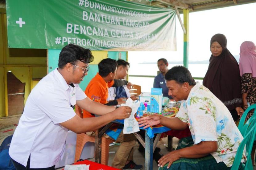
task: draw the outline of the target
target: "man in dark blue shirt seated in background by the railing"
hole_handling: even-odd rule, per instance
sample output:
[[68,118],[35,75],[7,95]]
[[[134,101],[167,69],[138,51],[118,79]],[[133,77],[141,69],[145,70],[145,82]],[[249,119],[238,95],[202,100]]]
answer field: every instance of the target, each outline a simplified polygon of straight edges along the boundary
[[161,73],[157,75],[154,79],[154,88],[162,88],[163,89],[163,96],[172,99],[171,96],[168,95],[168,88],[166,87],[164,76],[168,71],[168,61],[167,59],[159,59],[157,61],[157,67]]

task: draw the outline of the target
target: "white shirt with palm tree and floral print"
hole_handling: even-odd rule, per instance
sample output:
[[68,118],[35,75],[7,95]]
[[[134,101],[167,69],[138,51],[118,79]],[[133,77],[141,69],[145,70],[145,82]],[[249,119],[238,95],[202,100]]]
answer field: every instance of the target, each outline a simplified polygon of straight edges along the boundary
[[176,117],[188,123],[195,144],[217,141],[218,149],[211,155],[217,163],[232,166],[243,137],[227,107],[208,88],[197,83],[181,103]]

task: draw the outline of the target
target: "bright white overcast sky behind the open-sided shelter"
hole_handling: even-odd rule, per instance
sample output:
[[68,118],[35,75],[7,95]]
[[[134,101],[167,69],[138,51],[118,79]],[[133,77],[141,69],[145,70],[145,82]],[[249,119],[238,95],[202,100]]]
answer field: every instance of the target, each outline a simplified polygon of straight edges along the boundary
[[[239,55],[242,42],[256,43],[256,3],[189,13],[189,61],[209,60],[210,39],[221,33],[227,38],[227,48]],[[181,14],[183,20],[183,15]],[[130,51],[129,62],[156,62],[183,60],[183,30],[176,18],[177,51]]]

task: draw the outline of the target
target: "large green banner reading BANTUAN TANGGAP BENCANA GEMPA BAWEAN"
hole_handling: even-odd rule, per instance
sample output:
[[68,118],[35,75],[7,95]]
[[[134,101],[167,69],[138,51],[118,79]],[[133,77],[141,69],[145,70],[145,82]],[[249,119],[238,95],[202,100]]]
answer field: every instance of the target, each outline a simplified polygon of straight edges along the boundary
[[175,51],[175,10],[126,0],[6,0],[9,48]]

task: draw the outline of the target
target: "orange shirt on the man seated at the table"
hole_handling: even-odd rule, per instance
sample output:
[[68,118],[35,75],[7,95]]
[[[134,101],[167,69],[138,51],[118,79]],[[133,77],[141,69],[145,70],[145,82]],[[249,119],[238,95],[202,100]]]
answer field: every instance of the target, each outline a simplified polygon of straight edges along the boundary
[[[108,88],[112,87],[114,80],[106,83],[105,80],[97,73],[95,77],[89,82],[85,89],[87,97],[95,102],[106,104],[108,99]],[[86,110],[83,110],[83,118],[94,117]]]

